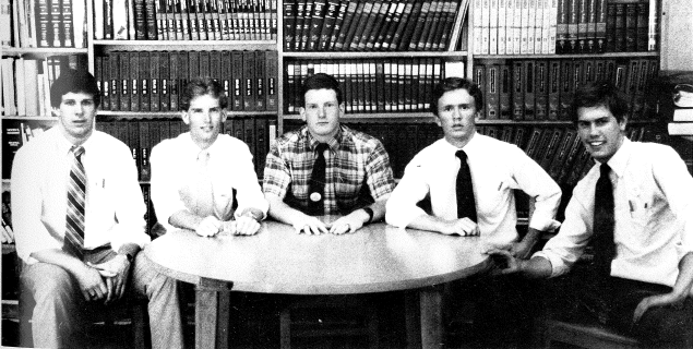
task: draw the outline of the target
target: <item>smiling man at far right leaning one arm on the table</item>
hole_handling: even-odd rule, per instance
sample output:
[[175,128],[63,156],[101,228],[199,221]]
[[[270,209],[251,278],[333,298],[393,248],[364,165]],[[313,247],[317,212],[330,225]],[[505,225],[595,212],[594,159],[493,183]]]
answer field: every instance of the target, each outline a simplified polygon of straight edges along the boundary
[[[693,179],[670,147],[624,136],[628,105],[611,83],[578,91],[577,132],[596,160],[573,190],[561,230],[505,274],[567,275],[566,303],[649,346],[693,347]],[[576,263],[592,245],[592,262]],[[561,309],[565,312],[565,309]]]

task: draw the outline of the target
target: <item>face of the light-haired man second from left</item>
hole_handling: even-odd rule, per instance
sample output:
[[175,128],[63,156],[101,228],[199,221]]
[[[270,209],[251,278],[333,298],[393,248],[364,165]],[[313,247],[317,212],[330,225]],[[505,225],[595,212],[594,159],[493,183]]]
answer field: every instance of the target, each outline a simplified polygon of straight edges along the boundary
[[219,99],[208,94],[192,98],[188,111],[183,111],[183,122],[190,125],[192,140],[202,148],[216,141],[224,121],[226,111],[219,106]]

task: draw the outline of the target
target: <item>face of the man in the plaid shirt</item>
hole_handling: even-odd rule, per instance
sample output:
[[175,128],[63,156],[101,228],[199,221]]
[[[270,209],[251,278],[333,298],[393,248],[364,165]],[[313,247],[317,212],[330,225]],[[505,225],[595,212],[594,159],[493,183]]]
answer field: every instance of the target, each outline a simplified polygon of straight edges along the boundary
[[344,115],[344,105],[337,101],[334,89],[309,89],[304,96],[306,107],[301,108],[301,119],[308,124],[308,131],[319,141],[327,141],[339,129],[339,118]]

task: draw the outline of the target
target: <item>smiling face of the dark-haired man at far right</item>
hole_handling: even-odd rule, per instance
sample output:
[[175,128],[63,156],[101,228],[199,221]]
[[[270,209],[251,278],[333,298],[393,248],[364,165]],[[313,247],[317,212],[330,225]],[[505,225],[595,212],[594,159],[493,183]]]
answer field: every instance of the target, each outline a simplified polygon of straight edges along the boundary
[[577,132],[585,148],[600,163],[608,161],[623,144],[626,120],[617,121],[605,106],[578,108]]

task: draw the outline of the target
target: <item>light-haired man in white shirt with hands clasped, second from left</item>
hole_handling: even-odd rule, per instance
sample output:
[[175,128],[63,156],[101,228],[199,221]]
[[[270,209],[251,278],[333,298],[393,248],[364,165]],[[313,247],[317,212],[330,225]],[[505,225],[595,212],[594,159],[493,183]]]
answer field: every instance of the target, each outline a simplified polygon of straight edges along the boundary
[[226,105],[218,83],[191,81],[181,100],[190,132],[152,149],[152,200],[167,230],[184,228],[213,237],[220,231],[254,234],[260,229],[267,202],[248,145],[220,134]]

